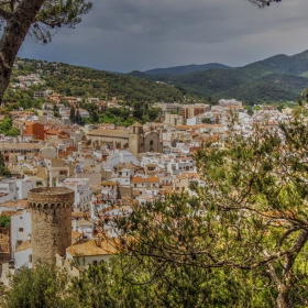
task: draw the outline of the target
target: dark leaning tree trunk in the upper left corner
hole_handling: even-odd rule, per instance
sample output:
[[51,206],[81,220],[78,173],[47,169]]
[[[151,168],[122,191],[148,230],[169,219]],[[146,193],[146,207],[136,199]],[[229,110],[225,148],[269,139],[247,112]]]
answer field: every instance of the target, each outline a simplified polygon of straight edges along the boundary
[[23,0],[7,19],[0,40],[0,103],[9,86],[16,54],[45,0]]

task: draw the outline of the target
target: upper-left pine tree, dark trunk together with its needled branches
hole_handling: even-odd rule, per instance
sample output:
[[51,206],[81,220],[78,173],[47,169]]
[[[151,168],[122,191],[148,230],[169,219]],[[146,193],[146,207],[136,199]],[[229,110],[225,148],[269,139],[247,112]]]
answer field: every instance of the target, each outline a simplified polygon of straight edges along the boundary
[[85,0],[0,0],[0,99],[25,35],[46,44],[56,29],[74,28],[90,8]]

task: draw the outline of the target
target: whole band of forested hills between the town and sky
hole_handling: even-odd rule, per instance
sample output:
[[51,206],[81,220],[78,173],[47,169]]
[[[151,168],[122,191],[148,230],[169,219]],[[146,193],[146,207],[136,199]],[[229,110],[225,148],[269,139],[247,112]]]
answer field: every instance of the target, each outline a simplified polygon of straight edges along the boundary
[[[185,97],[235,98],[246,103],[273,102],[296,100],[308,87],[308,51],[293,56],[276,55],[238,68],[206,66],[207,70],[186,75],[177,74],[193,66],[154,69],[156,74],[164,73],[162,75],[150,75],[148,70],[147,74],[134,70],[124,75],[25,59],[14,69],[12,79],[42,69],[46,84],[37,86],[37,90],[52,88],[62,95],[85,98],[118,97],[127,102],[184,101]],[[175,69],[174,75],[166,74],[167,69]]]

